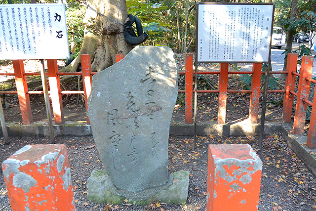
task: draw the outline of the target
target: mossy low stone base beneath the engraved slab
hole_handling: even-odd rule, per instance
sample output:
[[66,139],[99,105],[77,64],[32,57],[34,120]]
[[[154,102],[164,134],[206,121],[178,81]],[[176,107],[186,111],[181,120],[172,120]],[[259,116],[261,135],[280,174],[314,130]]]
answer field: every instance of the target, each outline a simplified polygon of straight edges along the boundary
[[93,170],[88,178],[87,199],[94,203],[148,205],[152,200],[160,203],[185,205],[188,198],[190,171],[176,171],[169,175],[169,181],[162,187],[140,192],[118,190],[105,170]]

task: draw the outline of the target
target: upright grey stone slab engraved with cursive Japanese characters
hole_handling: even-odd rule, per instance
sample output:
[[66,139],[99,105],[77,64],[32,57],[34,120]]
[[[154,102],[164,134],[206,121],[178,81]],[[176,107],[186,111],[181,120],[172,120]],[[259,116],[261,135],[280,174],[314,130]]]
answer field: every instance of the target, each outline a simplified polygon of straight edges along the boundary
[[166,184],[177,75],[170,48],[137,46],[93,76],[87,114],[102,162],[119,189]]

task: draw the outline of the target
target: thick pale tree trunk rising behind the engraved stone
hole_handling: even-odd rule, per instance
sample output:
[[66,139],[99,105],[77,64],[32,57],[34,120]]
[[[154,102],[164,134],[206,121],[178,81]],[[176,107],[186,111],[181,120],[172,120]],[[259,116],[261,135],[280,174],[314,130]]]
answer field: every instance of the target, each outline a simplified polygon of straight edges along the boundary
[[[125,0],[87,0],[87,5],[119,23],[127,18]],[[123,26],[87,8],[85,20],[92,22],[85,29],[79,55],[73,61],[72,72],[80,66],[80,55],[90,54],[93,72],[100,72],[113,65],[116,53],[127,54],[133,46],[124,39]]]

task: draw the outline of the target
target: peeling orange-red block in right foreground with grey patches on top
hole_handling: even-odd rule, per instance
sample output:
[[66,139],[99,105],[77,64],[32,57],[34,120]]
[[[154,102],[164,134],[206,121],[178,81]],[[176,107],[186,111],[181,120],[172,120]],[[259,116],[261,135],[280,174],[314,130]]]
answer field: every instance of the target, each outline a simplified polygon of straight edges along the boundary
[[209,145],[206,211],[257,211],[261,171],[250,145]]

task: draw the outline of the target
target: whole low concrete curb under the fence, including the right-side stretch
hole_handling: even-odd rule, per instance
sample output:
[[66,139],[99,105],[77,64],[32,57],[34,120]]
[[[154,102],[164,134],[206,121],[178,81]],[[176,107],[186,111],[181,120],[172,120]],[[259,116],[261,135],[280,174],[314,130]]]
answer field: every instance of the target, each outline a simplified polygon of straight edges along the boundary
[[[17,123],[7,123],[9,136],[49,136],[49,127],[46,122],[37,122],[32,125],[20,125]],[[274,132],[281,132],[291,149],[316,175],[316,149],[306,147],[307,136],[292,135],[288,131],[292,130],[292,125],[281,125],[278,122],[266,123],[264,134],[269,135]],[[214,136],[243,136],[259,135],[260,124],[251,125],[247,121],[225,125],[198,125],[197,135]],[[92,135],[92,130],[86,122],[65,122],[62,125],[54,125],[55,136],[85,136]],[[192,136],[194,134],[193,125],[174,124],[170,126],[170,135]],[[0,130],[0,136],[2,130]]]

